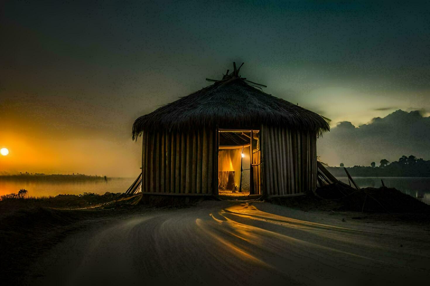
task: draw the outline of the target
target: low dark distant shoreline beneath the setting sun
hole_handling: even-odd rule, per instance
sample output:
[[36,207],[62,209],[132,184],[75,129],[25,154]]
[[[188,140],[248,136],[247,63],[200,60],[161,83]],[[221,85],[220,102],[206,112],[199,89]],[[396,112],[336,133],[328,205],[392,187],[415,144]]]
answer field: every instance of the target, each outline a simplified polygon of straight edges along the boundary
[[11,179],[11,180],[22,180],[22,181],[87,181],[87,180],[105,180],[107,181],[106,176],[98,176],[98,175],[84,175],[84,174],[72,174],[72,175],[62,175],[62,174],[52,174],[52,175],[46,175],[43,173],[22,173],[20,172],[19,175],[1,175],[0,179]]

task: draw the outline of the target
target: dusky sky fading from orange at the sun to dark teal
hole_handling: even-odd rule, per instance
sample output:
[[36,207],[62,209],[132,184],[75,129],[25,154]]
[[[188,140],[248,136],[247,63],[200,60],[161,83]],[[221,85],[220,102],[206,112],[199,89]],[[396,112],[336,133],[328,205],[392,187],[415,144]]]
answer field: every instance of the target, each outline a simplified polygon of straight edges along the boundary
[[430,115],[422,2],[3,1],[0,148],[9,155],[0,173],[135,177],[133,121],[221,78],[233,61],[265,92],[332,120],[318,140],[323,162],[367,166],[405,152],[429,160],[419,138],[386,134],[391,145],[367,145],[362,156],[350,150],[362,150],[364,131],[341,136],[399,109]]

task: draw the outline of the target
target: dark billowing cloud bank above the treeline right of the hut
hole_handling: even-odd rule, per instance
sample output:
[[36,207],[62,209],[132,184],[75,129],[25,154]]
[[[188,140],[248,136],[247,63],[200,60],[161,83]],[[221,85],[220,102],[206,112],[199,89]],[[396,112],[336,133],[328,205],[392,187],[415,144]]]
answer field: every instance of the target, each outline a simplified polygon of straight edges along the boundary
[[331,166],[369,166],[381,159],[398,160],[402,155],[430,159],[430,117],[420,110],[397,110],[375,117],[368,124],[354,126],[348,121],[318,139],[317,153]]

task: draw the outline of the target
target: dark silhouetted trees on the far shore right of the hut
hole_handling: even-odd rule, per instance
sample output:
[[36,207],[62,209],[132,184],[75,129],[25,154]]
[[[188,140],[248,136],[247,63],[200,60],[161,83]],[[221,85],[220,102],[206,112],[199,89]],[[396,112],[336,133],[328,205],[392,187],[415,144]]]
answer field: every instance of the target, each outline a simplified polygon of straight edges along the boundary
[[[414,155],[389,162],[382,159],[379,166],[372,162],[370,166],[353,166],[346,168],[352,177],[430,177],[430,160],[417,159]],[[335,177],[345,177],[343,163],[340,167],[328,167],[327,170]]]

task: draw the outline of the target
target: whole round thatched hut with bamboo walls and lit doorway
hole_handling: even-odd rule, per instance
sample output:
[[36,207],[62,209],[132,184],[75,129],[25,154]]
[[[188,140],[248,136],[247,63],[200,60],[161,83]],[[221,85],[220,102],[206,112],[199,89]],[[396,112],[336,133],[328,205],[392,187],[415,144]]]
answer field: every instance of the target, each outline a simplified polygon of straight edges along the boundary
[[[240,69],[240,68],[239,68]],[[320,115],[233,72],[135,120],[141,190],[180,196],[295,196],[316,188]]]

